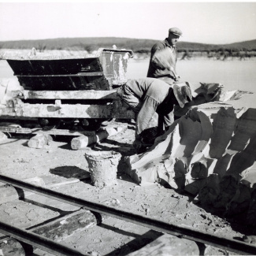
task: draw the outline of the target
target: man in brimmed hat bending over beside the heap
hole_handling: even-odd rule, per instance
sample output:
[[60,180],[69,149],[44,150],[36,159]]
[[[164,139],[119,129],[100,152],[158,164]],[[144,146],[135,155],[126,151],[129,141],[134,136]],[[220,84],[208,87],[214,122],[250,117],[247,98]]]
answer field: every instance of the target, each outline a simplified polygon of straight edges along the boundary
[[[117,95],[135,112],[133,147],[138,153],[145,144],[152,145],[154,139],[164,132],[164,127],[167,130],[173,124],[173,106],[179,104],[183,108],[184,104],[192,99],[191,88],[187,84],[182,83],[179,86],[179,83],[176,83],[172,88],[168,83],[154,78],[128,80],[117,89]],[[146,133],[145,136],[154,113],[158,113],[158,132],[151,136]]]

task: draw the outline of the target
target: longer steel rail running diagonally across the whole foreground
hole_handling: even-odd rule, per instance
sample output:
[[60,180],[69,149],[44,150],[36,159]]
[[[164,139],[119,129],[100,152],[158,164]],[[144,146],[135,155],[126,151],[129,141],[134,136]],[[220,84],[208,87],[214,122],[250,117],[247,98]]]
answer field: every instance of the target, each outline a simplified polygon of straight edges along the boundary
[[184,239],[190,239],[199,243],[206,243],[213,247],[218,247],[224,250],[236,252],[237,254],[256,255],[256,247],[250,243],[244,243],[242,241],[235,239],[228,239],[221,236],[215,236],[207,232],[199,232],[193,228],[185,228],[175,224],[169,224],[163,221],[158,221],[150,217],[143,217],[141,215],[130,213],[124,210],[117,210],[106,205],[86,201],[81,198],[75,198],[72,197],[71,195],[61,194],[57,191],[51,191],[50,189],[44,187],[28,184],[20,180],[15,180],[9,176],[0,175],[0,181],[6,184],[13,185],[14,187],[20,187],[24,190],[32,191],[39,195],[54,198],[55,200],[61,202],[66,202],[74,206],[84,207],[87,210],[106,214],[108,216],[121,219],[123,221],[129,221],[135,224],[143,225],[147,228],[158,230],[160,232],[165,232],[174,236],[180,236]]

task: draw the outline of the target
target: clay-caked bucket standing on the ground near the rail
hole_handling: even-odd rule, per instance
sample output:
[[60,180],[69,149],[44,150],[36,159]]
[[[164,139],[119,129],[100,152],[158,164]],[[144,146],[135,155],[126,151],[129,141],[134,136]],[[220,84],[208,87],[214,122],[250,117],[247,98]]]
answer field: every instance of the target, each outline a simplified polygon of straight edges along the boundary
[[117,184],[117,165],[121,154],[114,151],[93,151],[85,154],[91,182],[96,187],[106,187]]

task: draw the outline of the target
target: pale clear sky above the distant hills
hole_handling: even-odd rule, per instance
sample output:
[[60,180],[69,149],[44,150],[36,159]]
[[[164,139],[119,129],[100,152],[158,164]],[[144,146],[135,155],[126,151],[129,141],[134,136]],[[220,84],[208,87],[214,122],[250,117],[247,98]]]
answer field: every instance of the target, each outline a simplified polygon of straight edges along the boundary
[[256,39],[256,2],[0,2],[0,41],[72,37],[236,43]]

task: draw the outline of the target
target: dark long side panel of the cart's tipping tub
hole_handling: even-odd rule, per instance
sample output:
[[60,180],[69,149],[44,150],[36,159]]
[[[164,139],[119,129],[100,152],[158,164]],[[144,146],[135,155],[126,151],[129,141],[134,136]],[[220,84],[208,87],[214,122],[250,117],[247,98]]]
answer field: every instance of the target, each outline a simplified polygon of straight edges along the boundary
[[98,58],[7,61],[25,89],[109,90]]

